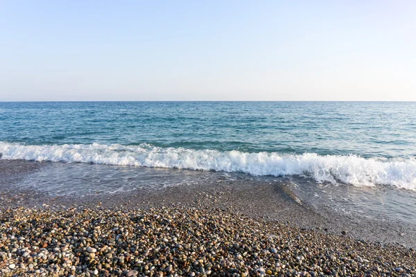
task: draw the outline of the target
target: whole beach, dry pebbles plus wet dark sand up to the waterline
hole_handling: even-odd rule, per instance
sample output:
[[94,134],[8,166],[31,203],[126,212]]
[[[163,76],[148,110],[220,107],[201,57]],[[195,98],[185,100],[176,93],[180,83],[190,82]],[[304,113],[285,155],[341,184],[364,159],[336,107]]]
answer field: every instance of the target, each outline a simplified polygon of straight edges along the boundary
[[1,164],[8,172],[0,181],[3,276],[416,272],[410,231],[392,234],[382,222],[316,213],[289,184],[215,179],[213,172],[211,184],[51,197],[13,185],[44,163]]

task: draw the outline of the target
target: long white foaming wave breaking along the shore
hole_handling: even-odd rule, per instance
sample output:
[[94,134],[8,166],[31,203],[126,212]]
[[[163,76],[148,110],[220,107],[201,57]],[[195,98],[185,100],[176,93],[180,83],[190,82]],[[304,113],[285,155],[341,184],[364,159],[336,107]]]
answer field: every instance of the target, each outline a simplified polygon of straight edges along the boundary
[[101,163],[115,166],[146,166],[245,172],[250,175],[311,177],[318,182],[354,186],[386,185],[416,190],[415,159],[365,159],[356,155],[315,153],[281,154],[240,151],[191,150],[141,145],[98,143],[65,145],[20,145],[0,142],[0,159]]

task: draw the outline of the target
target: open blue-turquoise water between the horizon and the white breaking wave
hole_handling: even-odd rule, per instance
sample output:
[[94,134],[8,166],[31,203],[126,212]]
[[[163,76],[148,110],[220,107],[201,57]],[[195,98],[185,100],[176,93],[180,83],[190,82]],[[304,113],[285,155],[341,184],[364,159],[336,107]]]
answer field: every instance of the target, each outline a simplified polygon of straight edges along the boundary
[[416,102],[0,102],[0,141],[416,156]]

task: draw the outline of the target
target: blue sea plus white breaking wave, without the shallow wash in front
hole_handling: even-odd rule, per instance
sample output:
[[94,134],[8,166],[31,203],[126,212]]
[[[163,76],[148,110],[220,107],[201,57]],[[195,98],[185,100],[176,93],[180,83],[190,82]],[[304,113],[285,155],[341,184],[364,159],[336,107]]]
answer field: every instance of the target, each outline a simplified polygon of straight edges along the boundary
[[1,102],[1,159],[416,190],[416,102]]

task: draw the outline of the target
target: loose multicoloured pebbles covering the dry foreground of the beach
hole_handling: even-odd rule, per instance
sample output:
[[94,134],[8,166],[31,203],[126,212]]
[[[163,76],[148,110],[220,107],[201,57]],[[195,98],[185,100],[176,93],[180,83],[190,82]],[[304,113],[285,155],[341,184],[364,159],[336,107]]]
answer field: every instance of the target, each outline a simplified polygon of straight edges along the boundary
[[8,207],[1,276],[416,276],[416,250],[230,208]]

